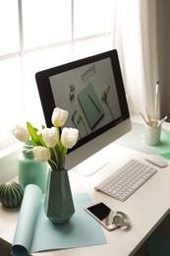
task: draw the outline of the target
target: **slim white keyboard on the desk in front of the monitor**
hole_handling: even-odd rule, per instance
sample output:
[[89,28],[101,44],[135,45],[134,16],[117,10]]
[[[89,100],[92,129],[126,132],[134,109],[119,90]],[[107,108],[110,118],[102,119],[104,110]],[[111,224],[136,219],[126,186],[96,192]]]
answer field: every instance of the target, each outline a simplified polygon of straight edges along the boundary
[[125,201],[156,172],[156,169],[139,160],[130,160],[94,188]]

